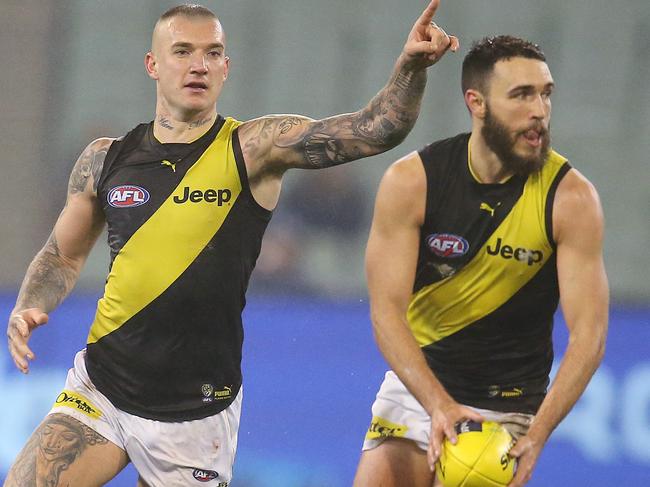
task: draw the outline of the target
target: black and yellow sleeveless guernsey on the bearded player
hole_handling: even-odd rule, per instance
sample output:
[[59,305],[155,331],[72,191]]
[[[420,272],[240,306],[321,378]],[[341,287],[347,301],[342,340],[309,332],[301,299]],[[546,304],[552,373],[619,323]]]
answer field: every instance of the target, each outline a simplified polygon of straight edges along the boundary
[[468,152],[469,134],[419,152],[427,200],[409,326],[455,400],[535,413],[559,299],[553,200],[570,165],[551,151],[536,174],[482,184]]

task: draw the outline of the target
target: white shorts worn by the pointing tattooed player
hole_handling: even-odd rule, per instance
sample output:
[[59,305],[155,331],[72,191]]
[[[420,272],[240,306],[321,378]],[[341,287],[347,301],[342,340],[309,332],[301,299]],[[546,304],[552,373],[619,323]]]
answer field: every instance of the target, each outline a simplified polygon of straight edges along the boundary
[[117,409],[90,381],[84,361],[75,356],[65,389],[48,414],[72,416],[126,451],[150,487],[206,485],[226,487],[232,479],[242,391],[225,410],[194,421],[145,419]]

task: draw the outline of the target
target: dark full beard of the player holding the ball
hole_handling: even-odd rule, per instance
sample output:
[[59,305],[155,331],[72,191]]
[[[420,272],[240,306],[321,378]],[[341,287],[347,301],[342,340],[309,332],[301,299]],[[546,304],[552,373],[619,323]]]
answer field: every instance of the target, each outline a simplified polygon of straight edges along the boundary
[[[515,152],[515,144],[519,137],[528,130],[539,132],[542,140],[540,151],[537,155],[520,156]],[[538,172],[544,166],[551,146],[551,134],[541,122],[531,125],[526,130],[511,134],[508,127],[492,114],[489,105],[486,105],[481,135],[489,149],[501,160],[504,169],[525,177]]]

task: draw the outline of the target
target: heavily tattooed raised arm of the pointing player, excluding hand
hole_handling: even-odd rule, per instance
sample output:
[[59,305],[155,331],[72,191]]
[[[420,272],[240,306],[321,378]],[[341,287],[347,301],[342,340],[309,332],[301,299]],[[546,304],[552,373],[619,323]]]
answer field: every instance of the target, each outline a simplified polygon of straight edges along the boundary
[[[300,155],[308,168],[335,166],[387,151],[411,131],[420,112],[426,71],[399,62],[387,85],[363,109],[314,122],[299,136],[285,136],[300,119],[286,118],[274,138],[277,147]],[[295,123],[294,120],[298,120]]]

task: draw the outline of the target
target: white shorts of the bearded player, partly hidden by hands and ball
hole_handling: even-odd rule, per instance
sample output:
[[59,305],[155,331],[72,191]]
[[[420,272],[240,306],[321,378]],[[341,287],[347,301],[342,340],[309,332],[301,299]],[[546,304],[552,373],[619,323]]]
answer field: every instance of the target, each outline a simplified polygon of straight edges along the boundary
[[[472,407],[487,421],[501,423],[515,438],[525,435],[533,415],[504,413]],[[395,372],[386,372],[377,399],[372,405],[372,421],[363,442],[363,450],[379,446],[386,438],[404,438],[414,441],[421,449],[429,447],[431,417],[409,392]]]

